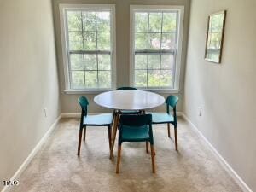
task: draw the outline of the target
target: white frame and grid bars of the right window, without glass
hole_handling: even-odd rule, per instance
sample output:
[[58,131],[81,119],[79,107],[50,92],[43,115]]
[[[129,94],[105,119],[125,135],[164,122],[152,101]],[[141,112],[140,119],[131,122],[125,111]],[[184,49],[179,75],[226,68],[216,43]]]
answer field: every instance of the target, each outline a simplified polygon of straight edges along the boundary
[[[179,76],[180,76],[180,65],[181,65],[181,49],[182,49],[182,36],[183,36],[183,6],[142,6],[142,5],[131,5],[130,6],[130,26],[131,26],[131,64],[130,64],[130,84],[135,86],[135,71],[136,70],[147,70],[147,86],[137,86],[138,89],[142,90],[178,90],[179,89]],[[175,31],[175,46],[174,49],[162,49],[162,34],[164,33],[172,33],[172,32],[163,32],[162,26],[160,33],[160,49],[135,49],[135,34],[139,32],[135,32],[135,14],[136,13],[148,13],[148,23],[149,23],[149,14],[150,13],[161,13],[162,20],[161,25],[163,25],[163,14],[164,13],[176,13],[176,31]],[[148,25],[149,27],[149,25]],[[158,32],[150,32],[149,29],[147,32],[143,33],[158,33]],[[149,38],[148,43],[149,43]],[[148,44],[147,43],[147,44]],[[135,69],[135,56],[147,55],[147,68],[145,69]],[[171,86],[148,86],[148,71],[151,70],[165,70],[160,68],[148,69],[148,55],[160,55],[160,65],[161,65],[161,55],[173,55],[173,67],[172,67],[172,85]],[[159,75],[160,76],[160,75]]]

